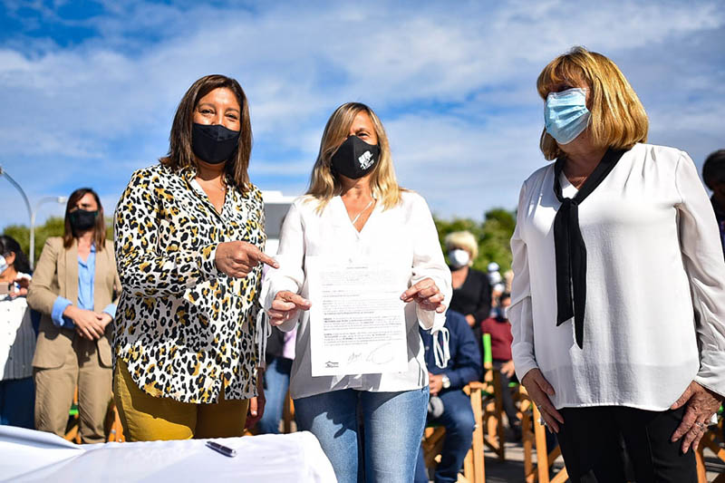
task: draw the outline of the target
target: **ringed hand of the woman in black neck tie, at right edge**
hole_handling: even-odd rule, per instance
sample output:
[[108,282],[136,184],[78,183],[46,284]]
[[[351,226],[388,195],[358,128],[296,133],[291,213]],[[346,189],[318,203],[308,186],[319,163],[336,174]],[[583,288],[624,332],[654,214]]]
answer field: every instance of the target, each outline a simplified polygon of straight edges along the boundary
[[705,434],[705,430],[710,424],[710,418],[716,411],[720,409],[722,396],[702,387],[697,382],[690,382],[687,389],[682,393],[680,399],[675,401],[670,407],[676,410],[687,404],[685,415],[677,430],[672,434],[672,442],[682,439],[682,453],[686,453],[688,449],[697,449]]

